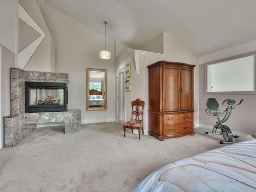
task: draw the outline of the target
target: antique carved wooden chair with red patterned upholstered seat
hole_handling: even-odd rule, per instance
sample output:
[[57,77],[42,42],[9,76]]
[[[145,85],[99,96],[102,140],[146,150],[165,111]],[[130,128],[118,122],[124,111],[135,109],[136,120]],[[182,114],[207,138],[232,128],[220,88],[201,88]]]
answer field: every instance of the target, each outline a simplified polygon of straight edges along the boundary
[[[139,131],[139,139],[142,130],[142,134],[144,135],[143,130],[143,110],[144,110],[145,102],[140,99],[136,99],[132,102],[132,118],[131,121],[127,121],[123,124],[123,137],[125,137],[126,128],[133,130],[136,129]],[[140,107],[142,107],[142,111],[140,111]],[[135,111],[134,111],[135,108]],[[139,118],[141,116],[141,119]],[[135,117],[135,118],[134,118]]]

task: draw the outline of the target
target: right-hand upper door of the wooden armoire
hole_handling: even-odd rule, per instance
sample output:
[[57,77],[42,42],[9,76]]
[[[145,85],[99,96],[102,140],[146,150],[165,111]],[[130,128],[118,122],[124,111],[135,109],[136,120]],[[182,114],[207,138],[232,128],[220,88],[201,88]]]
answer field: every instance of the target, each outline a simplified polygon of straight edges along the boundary
[[193,110],[194,89],[193,69],[181,68],[181,108],[180,110]]

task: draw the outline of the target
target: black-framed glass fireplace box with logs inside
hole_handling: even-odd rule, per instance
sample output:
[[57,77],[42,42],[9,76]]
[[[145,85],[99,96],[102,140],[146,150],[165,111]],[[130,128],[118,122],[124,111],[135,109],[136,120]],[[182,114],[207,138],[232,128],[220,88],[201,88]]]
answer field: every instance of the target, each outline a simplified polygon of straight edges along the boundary
[[25,82],[25,112],[67,111],[68,86],[60,82]]

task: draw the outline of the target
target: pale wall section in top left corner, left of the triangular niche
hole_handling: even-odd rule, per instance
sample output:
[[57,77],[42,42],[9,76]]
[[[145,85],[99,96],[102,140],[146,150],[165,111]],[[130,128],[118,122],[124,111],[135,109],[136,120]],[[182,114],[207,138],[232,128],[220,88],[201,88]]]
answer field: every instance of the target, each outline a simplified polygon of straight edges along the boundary
[[0,44],[16,52],[17,0],[0,1]]

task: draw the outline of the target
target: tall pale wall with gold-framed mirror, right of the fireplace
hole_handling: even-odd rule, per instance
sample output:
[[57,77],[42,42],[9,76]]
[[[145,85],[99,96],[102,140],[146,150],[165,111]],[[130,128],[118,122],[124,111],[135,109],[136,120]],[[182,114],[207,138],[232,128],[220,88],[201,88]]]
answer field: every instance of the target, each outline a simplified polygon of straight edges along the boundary
[[[115,120],[115,42],[106,38],[110,60],[99,59],[104,36],[47,5],[41,5],[49,30],[56,44],[58,73],[69,73],[69,109],[81,109],[82,123]],[[86,111],[86,69],[108,70],[108,110]]]

